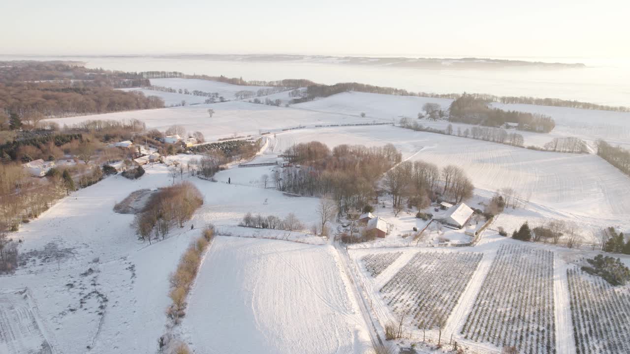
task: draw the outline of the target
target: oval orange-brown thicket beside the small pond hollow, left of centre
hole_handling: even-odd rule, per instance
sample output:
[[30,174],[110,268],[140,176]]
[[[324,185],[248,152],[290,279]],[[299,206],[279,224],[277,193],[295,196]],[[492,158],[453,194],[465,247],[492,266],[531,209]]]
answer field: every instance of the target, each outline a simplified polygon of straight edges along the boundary
[[132,227],[139,239],[149,243],[164,239],[174,226],[183,227],[202,204],[201,192],[188,181],[160,188],[151,195],[145,210],[135,215]]

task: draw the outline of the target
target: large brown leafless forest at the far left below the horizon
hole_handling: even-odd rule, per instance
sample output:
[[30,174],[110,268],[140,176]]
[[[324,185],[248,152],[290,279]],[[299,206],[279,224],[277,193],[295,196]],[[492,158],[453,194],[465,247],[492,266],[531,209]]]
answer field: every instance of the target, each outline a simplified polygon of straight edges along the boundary
[[76,62],[0,62],[0,120],[16,116],[37,123],[45,117],[161,108],[164,101],[117,88],[149,85],[134,72],[86,69]]

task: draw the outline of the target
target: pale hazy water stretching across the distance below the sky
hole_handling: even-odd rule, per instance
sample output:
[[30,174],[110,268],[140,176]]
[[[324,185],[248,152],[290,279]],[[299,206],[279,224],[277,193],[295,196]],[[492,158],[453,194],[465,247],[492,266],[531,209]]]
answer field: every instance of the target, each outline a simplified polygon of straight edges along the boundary
[[157,57],[16,57],[0,60],[78,60],[88,67],[122,71],[180,71],[243,77],[246,80],[309,79],[316,83],[357,82],[430,93],[488,93],[498,96],[561,98],[601,105],[630,106],[630,60],[518,58],[581,62],[585,68],[418,69],[334,62],[246,62]]

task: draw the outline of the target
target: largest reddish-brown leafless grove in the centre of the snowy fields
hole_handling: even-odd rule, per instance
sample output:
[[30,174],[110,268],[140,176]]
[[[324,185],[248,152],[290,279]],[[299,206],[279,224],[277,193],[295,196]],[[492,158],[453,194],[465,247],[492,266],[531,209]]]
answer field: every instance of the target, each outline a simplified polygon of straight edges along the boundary
[[392,144],[384,147],[336,146],[332,151],[321,142],[297,144],[285,151],[290,161],[301,164],[276,169],[276,188],[301,195],[328,195],[341,213],[361,210],[375,197],[375,183],[401,161]]

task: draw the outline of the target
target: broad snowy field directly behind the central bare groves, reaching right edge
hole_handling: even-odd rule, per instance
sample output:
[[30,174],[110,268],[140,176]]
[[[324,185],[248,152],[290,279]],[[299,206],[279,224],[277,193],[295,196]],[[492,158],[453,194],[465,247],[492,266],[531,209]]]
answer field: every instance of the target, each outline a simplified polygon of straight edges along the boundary
[[545,217],[574,222],[630,227],[630,178],[591,154],[533,151],[447,135],[413,132],[398,127],[343,127],[277,134],[274,151],[298,142],[318,140],[336,146],[382,146],[392,142],[403,159],[439,167],[460,166],[477,193],[491,197],[500,188],[514,188],[528,208]]

